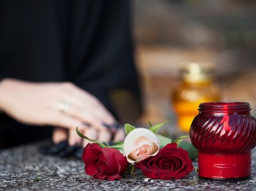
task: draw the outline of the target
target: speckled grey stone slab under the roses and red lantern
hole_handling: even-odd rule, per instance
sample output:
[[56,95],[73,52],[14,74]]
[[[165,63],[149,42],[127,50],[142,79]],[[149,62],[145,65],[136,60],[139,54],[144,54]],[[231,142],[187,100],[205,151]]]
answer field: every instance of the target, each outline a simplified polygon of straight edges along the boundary
[[[256,150],[252,176],[243,181],[202,180],[193,172],[183,180],[151,180],[140,171],[122,180],[93,180],[78,159],[38,152],[40,144],[0,151],[0,190],[256,190]],[[197,164],[195,164],[197,165]]]

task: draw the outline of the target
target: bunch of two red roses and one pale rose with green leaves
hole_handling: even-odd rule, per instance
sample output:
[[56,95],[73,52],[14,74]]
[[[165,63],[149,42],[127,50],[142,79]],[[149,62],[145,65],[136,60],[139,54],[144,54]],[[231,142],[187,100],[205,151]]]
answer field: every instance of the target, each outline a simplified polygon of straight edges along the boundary
[[147,178],[173,180],[184,178],[193,171],[188,152],[180,148],[182,136],[174,142],[157,134],[166,121],[149,128],[124,126],[127,134],[124,142],[113,145],[103,144],[76,132],[82,138],[93,142],[84,148],[82,160],[87,175],[100,180],[120,180],[122,173],[139,168]]

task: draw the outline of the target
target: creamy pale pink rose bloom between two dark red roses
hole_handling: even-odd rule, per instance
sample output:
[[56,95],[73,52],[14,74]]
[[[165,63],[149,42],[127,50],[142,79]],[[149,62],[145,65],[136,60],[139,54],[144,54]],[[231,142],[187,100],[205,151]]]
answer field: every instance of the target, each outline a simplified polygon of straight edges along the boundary
[[136,128],[124,140],[124,155],[129,163],[138,163],[159,151],[159,139],[151,130]]

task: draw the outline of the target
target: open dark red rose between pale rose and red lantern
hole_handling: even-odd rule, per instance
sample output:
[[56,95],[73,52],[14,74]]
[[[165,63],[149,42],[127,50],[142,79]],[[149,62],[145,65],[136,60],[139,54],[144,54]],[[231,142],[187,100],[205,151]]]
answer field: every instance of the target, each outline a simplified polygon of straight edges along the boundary
[[188,151],[170,143],[161,148],[154,157],[140,161],[140,169],[147,178],[172,180],[184,178],[193,171]]

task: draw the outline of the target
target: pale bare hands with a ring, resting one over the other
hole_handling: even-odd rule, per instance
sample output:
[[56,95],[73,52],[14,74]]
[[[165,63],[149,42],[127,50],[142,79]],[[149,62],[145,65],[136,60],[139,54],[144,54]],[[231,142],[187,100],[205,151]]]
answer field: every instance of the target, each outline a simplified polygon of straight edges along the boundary
[[24,124],[58,127],[53,134],[55,142],[68,138],[70,145],[81,144],[76,127],[102,142],[109,141],[112,133],[117,140],[124,138],[123,132],[104,126],[116,124],[116,119],[99,100],[70,82],[32,83],[7,78],[1,81],[0,92],[0,111]]

